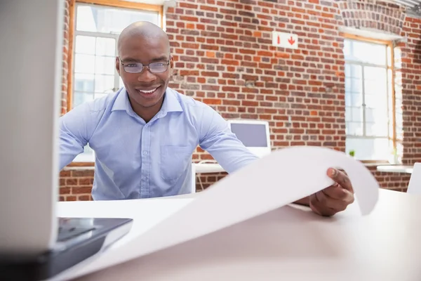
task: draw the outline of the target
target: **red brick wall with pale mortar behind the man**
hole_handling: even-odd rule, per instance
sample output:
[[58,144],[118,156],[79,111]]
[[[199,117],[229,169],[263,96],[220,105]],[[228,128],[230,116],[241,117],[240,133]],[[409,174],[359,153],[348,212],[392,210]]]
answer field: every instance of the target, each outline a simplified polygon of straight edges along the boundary
[[[374,27],[371,22],[378,20],[373,18],[387,15],[393,19],[390,24],[376,23],[375,27],[409,37],[401,45],[403,161],[421,161],[417,113],[421,112],[421,20],[405,18],[393,6],[276,2],[177,1],[177,7],[169,8],[166,15],[175,58],[171,87],[212,105],[223,117],[269,121],[273,148],[323,145],[345,151],[344,37],[339,28]],[[271,46],[272,30],[298,34],[299,49]],[[194,157],[211,158],[200,149]],[[408,184],[407,175],[370,169],[384,188],[405,190]],[[93,172],[86,171],[82,177],[80,173],[62,172],[61,200],[88,199],[80,192],[91,186],[87,183]],[[206,187],[222,176],[207,174],[201,179]]]

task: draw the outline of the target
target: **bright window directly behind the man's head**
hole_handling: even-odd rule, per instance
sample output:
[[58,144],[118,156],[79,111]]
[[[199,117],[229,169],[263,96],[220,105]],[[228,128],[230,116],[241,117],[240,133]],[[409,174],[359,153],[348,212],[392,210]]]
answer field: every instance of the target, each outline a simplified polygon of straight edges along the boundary
[[[67,110],[123,86],[115,70],[115,58],[119,34],[126,26],[140,20],[161,26],[161,6],[126,1],[114,1],[116,6],[101,5],[102,0],[95,1],[98,4],[83,2],[76,1],[74,8],[73,63],[69,70],[72,81]],[[87,145],[74,162],[93,162],[93,150]]]

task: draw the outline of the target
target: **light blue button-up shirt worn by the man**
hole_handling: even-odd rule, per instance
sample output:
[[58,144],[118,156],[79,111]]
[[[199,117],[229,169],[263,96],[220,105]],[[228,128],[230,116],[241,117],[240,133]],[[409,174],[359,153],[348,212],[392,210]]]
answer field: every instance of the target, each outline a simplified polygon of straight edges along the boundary
[[188,193],[183,183],[197,145],[228,173],[258,158],[212,107],[169,88],[148,123],[133,112],[124,88],[60,117],[60,170],[88,143],[95,151],[94,200]]

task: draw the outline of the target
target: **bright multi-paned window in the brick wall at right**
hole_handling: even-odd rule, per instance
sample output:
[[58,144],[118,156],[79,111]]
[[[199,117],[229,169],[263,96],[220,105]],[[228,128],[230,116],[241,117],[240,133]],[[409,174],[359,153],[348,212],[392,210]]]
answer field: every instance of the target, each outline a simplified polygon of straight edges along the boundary
[[390,160],[394,152],[392,48],[345,39],[346,150],[361,160]]

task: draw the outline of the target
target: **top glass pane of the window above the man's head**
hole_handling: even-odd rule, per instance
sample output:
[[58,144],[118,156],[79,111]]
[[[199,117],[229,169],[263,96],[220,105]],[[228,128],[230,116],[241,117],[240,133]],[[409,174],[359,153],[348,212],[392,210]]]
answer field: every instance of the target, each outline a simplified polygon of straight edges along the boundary
[[85,4],[78,4],[76,8],[76,30],[80,31],[119,34],[126,26],[138,21],[159,26],[159,13]]

